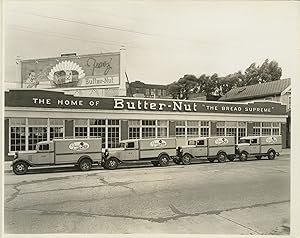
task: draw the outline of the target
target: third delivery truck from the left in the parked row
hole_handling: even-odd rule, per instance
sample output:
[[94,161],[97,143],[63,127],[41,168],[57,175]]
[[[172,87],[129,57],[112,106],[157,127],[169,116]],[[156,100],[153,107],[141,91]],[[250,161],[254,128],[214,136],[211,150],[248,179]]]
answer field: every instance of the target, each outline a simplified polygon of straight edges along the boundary
[[206,157],[209,162],[219,162],[235,158],[235,142],[233,136],[191,138],[187,145],[178,147],[176,164],[190,164],[193,159]]

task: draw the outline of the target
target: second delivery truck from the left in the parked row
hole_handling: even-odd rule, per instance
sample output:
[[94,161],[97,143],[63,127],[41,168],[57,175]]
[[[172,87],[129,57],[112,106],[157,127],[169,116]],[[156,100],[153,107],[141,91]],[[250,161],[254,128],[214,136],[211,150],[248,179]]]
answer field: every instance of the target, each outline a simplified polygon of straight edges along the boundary
[[120,142],[120,148],[105,150],[102,166],[116,169],[120,163],[152,162],[167,166],[176,156],[176,139],[131,139]]

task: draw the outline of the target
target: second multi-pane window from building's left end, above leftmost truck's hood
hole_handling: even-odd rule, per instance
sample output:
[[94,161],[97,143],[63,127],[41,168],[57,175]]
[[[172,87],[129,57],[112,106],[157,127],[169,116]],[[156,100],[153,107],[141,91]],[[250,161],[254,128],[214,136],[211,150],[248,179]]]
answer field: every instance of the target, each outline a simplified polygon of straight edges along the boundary
[[35,150],[36,144],[47,140],[48,119],[28,119],[28,150]]

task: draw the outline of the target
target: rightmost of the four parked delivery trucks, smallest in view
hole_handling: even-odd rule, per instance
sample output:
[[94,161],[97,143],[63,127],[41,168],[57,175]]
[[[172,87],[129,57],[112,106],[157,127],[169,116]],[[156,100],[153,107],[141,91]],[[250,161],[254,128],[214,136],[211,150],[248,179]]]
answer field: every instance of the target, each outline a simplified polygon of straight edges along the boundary
[[237,153],[241,161],[246,161],[248,157],[255,156],[261,159],[267,156],[273,160],[282,151],[282,138],[278,136],[245,136],[237,144]]

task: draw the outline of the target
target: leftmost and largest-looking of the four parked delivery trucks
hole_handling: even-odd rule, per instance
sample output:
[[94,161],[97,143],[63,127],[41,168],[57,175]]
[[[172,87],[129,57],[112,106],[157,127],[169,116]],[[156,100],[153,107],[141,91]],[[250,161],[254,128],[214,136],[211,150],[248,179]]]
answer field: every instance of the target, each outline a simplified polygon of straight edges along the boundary
[[32,152],[16,152],[12,162],[13,172],[25,174],[28,167],[74,164],[82,171],[93,164],[101,164],[102,143],[97,139],[54,139],[38,142]]

